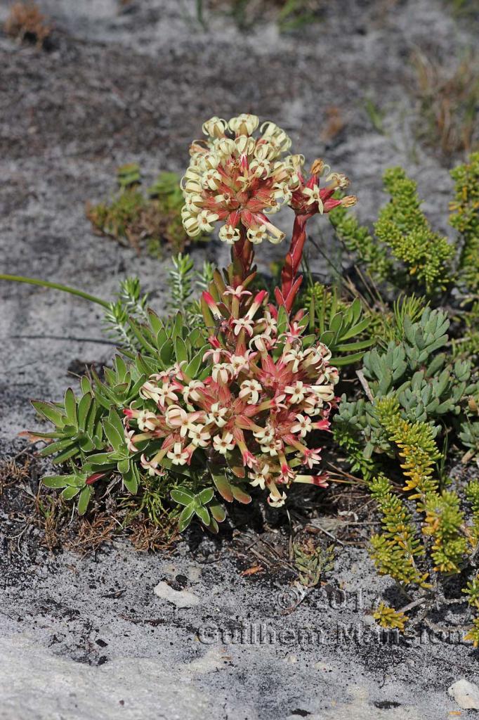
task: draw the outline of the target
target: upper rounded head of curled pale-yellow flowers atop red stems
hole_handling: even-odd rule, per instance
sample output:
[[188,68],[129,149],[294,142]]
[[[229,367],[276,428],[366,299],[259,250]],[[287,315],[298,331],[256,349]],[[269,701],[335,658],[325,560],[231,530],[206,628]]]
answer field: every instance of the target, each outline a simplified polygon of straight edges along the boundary
[[186,233],[195,237],[211,233],[222,222],[219,238],[230,245],[249,240],[280,243],[284,238],[268,219],[284,204],[298,214],[329,212],[338,204],[354,204],[354,197],[334,199],[337,189],[347,187],[344,175],[329,173],[324,188],[319,176],[327,166],[316,161],[312,176],[305,181],[301,172],[304,156],[286,155],[291,139],[273,122],[264,122],[255,138],[260,120],[240,114],[229,122],[211,117],[204,123],[207,140],[191,145],[191,164],[182,180],[185,205],[182,211]]

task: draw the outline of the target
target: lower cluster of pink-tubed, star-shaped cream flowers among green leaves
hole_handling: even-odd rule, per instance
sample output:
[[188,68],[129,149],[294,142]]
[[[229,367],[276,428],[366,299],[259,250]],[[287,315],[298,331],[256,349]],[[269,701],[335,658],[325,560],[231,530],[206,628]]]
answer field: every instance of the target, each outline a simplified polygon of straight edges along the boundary
[[193,458],[203,467],[236,467],[279,507],[293,482],[326,486],[326,475],[315,469],[321,448],[311,447],[309,436],[329,428],[338,372],[326,346],[302,337],[301,318],[265,309],[265,292],[252,297],[241,286],[226,287],[224,297],[227,318],[204,293],[221,323],[204,354],[207,377],[190,379],[183,363],[152,375],[141,400],[124,410],[127,442],[137,451],[143,441],[161,441],[155,454],[142,454],[150,474]]

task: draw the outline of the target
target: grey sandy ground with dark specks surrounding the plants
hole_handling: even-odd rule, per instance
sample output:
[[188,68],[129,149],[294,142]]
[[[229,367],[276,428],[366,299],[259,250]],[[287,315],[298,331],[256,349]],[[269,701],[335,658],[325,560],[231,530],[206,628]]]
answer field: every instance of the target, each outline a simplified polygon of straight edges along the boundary
[[[127,161],[140,162],[148,180],[181,171],[212,114],[275,120],[296,152],[350,176],[365,221],[383,202],[383,170],[402,164],[436,227],[450,232],[452,183],[415,138],[409,63],[414,48],[452,62],[473,45],[474,27],[456,22],[447,3],[330,3],[322,22],[283,36],[273,23],[244,35],[210,14],[204,29],[187,0],[133,0],[123,12],[114,0],[38,4],[55,22],[49,52],[0,35],[1,271],[106,298],[138,274],[161,310],[165,262],[93,235],[84,203],[111,192]],[[0,20],[8,8],[1,0]],[[383,115],[381,132],[367,99]],[[328,139],[332,106],[345,127]],[[326,231],[321,240],[335,257]],[[260,258],[263,268],[275,252]],[[194,251],[198,264],[205,254],[226,260],[214,243]],[[311,263],[327,273],[320,256]],[[97,306],[4,283],[0,297],[0,439],[12,454],[22,447],[17,433],[36,426],[29,399],[58,399],[69,370],[105,363],[113,348]],[[171,557],[118,542],[94,558],[50,557],[19,539],[12,559],[0,519],[1,720],[436,720],[460,709],[450,683],[475,680],[477,654],[454,638],[396,644],[375,634],[365,611],[388,581],[362,550],[338,559],[344,602],[317,591],[281,614],[289,585],[242,577],[227,539],[187,539]],[[155,595],[160,582],[173,589],[161,585]],[[361,592],[364,608],[356,607]]]

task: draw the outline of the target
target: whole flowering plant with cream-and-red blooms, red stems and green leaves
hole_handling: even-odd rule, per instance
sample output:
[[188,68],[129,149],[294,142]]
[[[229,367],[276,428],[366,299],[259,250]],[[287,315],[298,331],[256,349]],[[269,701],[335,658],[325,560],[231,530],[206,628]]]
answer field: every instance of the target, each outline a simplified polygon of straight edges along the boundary
[[[163,484],[181,505],[180,528],[197,516],[217,530],[227,502],[251,500],[250,487],[268,491],[280,507],[293,482],[327,487],[320,469],[318,433],[329,428],[337,405],[339,375],[331,352],[311,330],[304,309],[291,308],[301,285],[297,276],[306,240],[306,222],[355,198],[333,197],[347,186],[329,173],[324,188],[316,161],[306,181],[302,156],[284,156],[291,140],[271,122],[254,115],[229,122],[217,117],[203,126],[206,143],[191,146],[183,179],[183,223],[191,235],[211,232],[232,246],[232,264],[215,270],[201,297],[204,324],[193,331],[183,316],[163,323],[151,310],[129,318],[129,335],[140,353],[123,351],[101,381],[82,380],[82,397],[72,390],[63,405],[34,402],[55,425],[45,455],[70,462],[69,474],[44,479],[77,495],[86,510],[96,483],[120,474],[130,492],[142,481]],[[265,290],[252,292],[254,247],[283,240],[268,215],[282,204],[296,215],[293,237],[268,304]],[[160,478],[162,480],[160,480]]]

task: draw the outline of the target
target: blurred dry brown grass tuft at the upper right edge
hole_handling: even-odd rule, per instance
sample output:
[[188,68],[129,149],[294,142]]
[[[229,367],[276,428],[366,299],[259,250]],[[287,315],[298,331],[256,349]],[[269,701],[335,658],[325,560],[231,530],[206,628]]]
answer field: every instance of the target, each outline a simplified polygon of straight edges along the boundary
[[469,153],[479,142],[479,57],[470,53],[453,68],[416,51],[416,72],[421,121],[418,135],[444,156]]

